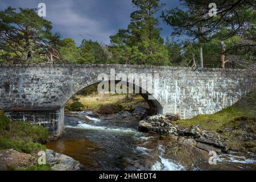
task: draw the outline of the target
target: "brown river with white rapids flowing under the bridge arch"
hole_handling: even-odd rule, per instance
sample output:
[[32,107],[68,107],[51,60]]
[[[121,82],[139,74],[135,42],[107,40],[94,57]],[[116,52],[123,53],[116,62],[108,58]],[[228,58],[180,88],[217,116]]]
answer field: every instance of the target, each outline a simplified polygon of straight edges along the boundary
[[[164,155],[166,149],[159,135],[139,132],[138,123],[128,112],[98,118],[91,111],[68,113],[63,137],[49,142],[47,148],[79,160],[84,170],[185,170]],[[216,160],[256,163],[235,154],[221,155]]]

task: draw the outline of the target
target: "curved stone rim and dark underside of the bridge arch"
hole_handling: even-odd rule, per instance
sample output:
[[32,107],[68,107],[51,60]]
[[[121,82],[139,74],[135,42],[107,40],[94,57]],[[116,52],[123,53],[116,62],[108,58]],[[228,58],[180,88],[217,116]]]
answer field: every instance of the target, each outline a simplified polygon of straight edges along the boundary
[[[110,82],[111,80],[106,80],[104,82]],[[85,89],[89,86],[92,86],[92,85],[96,85],[96,84],[99,84],[101,81],[98,81],[98,80],[95,80],[95,79],[92,79],[90,80],[89,82],[86,81],[85,84],[80,84],[79,88],[78,89],[74,89],[73,92],[72,92],[72,95],[66,97],[65,99],[65,104],[67,104],[68,100],[70,100],[75,94],[77,94],[78,92],[80,92],[82,89]],[[115,83],[117,82],[121,82],[122,84],[129,84],[129,82],[127,81],[121,81],[121,80],[114,80]],[[133,84],[133,88],[135,88],[135,84]],[[146,89],[142,88],[141,86],[139,86],[139,91],[140,91],[140,95],[144,98],[144,100],[147,102],[147,104],[150,106],[150,115],[154,115],[154,114],[163,114],[163,107],[162,105],[160,104],[160,102],[150,93],[147,92]],[[142,93],[143,91],[143,93]],[[151,99],[148,99],[148,98],[151,98]],[[64,104],[64,106],[65,106]]]

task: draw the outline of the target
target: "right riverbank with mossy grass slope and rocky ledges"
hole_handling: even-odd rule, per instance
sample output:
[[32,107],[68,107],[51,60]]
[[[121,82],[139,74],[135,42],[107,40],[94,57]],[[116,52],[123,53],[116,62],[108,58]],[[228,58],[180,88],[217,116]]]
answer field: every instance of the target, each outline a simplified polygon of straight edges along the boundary
[[[255,93],[247,94],[233,106],[215,114],[179,119],[177,115],[154,115],[139,122],[139,130],[168,138],[169,158],[192,168],[207,164],[209,155],[225,156],[239,162],[256,154]],[[212,153],[210,153],[212,152]],[[189,156],[188,157],[186,157]],[[231,159],[230,159],[231,160]],[[256,160],[250,160],[253,168]],[[223,166],[222,166],[223,167]]]

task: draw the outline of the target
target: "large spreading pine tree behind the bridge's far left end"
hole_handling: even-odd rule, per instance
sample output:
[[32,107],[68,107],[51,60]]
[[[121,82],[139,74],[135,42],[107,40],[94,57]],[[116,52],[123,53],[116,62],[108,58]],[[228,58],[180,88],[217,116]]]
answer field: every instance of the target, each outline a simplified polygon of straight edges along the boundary
[[51,22],[40,18],[35,9],[0,11],[0,59],[14,64],[53,62],[59,34],[51,30]]

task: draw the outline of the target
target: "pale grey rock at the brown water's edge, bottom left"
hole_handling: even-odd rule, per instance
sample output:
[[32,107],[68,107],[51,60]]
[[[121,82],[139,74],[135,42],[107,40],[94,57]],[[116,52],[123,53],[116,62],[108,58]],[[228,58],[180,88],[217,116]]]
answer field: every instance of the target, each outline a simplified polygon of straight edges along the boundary
[[46,150],[46,161],[53,171],[77,171],[82,166],[79,161],[53,150]]

